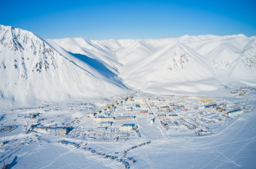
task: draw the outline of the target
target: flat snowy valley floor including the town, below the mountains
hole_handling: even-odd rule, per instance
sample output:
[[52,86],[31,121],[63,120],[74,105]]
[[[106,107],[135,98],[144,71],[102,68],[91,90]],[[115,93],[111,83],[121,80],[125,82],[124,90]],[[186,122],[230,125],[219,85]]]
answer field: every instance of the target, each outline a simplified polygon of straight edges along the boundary
[[[245,96],[231,94],[230,89],[218,98],[134,93],[126,101],[121,95],[93,103],[6,109],[0,117],[0,164],[10,168],[255,168],[256,91],[246,90]],[[243,112],[232,117],[218,108],[206,109],[205,100],[230,112],[238,108]]]

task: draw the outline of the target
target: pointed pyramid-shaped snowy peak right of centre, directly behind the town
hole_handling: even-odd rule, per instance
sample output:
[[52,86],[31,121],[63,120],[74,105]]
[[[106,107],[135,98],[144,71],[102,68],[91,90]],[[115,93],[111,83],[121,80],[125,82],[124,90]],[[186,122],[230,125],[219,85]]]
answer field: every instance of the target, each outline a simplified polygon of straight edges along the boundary
[[147,92],[213,90],[214,86],[205,86],[202,80],[218,83],[207,60],[180,43],[168,44],[127,65],[120,70],[125,84]]

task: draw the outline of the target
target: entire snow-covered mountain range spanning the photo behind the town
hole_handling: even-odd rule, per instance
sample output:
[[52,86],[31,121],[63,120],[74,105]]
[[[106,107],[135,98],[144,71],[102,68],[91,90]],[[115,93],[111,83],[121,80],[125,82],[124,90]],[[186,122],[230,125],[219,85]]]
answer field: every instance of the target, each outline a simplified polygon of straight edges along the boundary
[[256,86],[256,37],[46,40],[0,25],[0,99],[20,103]]

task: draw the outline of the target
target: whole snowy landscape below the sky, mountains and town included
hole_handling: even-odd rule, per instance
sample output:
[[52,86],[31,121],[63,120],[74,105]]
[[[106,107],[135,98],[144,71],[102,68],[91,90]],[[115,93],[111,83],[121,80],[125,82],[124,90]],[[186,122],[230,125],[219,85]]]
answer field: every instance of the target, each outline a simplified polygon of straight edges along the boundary
[[256,37],[44,39],[0,25],[0,166],[255,168]]

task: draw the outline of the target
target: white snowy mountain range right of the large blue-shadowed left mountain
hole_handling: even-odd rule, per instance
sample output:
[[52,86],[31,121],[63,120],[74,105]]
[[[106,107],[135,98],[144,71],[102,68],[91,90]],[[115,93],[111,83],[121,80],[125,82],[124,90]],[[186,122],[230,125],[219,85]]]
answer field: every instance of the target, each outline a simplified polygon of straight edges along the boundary
[[168,94],[212,91],[228,84],[256,85],[255,37],[242,34],[160,40],[54,41],[65,50],[88,54],[113,66],[131,89]]

